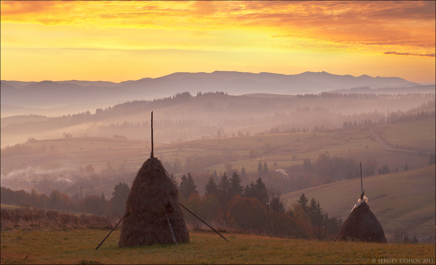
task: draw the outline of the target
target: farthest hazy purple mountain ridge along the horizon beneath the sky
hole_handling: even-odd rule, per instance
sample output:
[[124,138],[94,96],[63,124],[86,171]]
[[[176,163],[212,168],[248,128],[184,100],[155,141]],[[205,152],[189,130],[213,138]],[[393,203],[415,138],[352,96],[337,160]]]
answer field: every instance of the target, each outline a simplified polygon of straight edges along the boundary
[[177,93],[215,92],[228,94],[318,94],[356,87],[395,88],[420,86],[397,77],[333,75],[327,72],[304,72],[297,75],[214,71],[212,73],[178,72],[159,78],[142,78],[120,83],[109,81],[1,80],[1,104],[23,107],[57,107],[113,100],[154,99]]

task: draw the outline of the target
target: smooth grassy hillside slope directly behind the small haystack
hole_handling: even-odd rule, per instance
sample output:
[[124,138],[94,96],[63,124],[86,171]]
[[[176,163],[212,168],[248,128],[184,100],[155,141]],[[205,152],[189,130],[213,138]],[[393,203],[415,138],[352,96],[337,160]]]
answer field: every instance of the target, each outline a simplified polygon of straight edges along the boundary
[[[435,236],[435,179],[435,165],[363,177],[368,205],[388,238],[396,227],[412,235]],[[289,205],[296,203],[302,193],[309,200],[314,197],[319,201],[329,216],[345,220],[360,197],[360,178],[290,192],[283,197]]]

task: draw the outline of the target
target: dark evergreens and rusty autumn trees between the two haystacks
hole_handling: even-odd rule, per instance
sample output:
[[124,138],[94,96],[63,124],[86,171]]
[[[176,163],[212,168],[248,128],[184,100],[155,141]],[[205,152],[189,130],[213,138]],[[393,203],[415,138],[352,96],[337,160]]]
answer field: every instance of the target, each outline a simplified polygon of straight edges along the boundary
[[[262,164],[261,167],[265,170]],[[180,185],[173,175],[171,178],[180,191],[179,201],[182,204],[196,215],[226,228],[256,234],[322,239],[332,238],[339,233],[342,225],[340,218],[328,217],[314,198],[311,204],[287,205],[280,190],[266,187],[261,176],[243,187],[237,172],[230,177],[223,172],[219,181],[216,172],[211,173],[203,196],[200,196],[190,172],[182,176]],[[305,198],[304,194],[302,196]],[[188,213],[185,218],[194,225],[198,223]]]

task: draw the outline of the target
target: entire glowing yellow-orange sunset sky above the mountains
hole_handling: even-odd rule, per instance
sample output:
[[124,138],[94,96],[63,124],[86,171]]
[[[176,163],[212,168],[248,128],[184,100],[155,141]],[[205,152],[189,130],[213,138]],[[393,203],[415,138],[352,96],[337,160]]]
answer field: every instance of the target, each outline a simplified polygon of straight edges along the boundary
[[1,79],[326,71],[436,82],[435,1],[1,1]]

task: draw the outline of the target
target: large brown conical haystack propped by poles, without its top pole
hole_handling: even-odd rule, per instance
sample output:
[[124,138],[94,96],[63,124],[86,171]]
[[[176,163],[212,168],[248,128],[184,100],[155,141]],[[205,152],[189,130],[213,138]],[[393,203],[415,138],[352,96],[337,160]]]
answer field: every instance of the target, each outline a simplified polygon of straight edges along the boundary
[[145,161],[127,196],[126,216],[122,222],[118,247],[173,244],[165,212],[170,219],[176,241],[189,242],[189,233],[177,196],[177,187],[165,172],[162,163],[154,157]]

